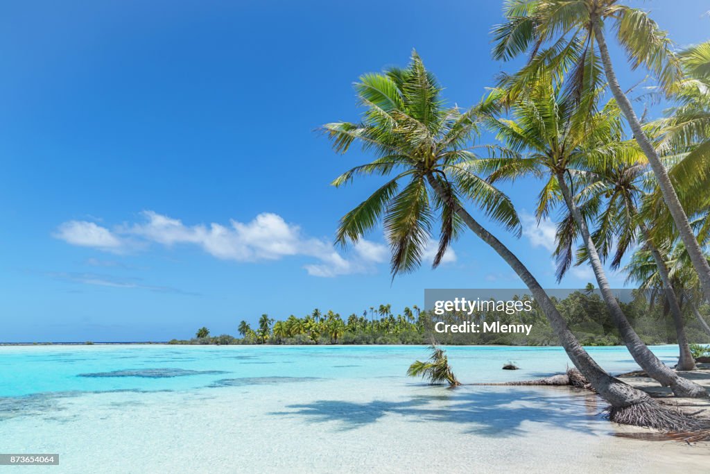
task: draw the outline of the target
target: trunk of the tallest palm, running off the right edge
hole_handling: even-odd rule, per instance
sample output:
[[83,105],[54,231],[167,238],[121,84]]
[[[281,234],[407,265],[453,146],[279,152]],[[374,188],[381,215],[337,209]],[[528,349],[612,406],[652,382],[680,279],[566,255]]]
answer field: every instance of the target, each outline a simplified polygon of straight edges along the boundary
[[633,131],[633,136],[638,142],[639,146],[643,150],[646,158],[648,158],[648,163],[650,163],[653,174],[655,174],[658,181],[658,185],[663,193],[663,199],[670,215],[673,217],[676,228],[678,229],[680,238],[682,239],[685,247],[687,249],[690,260],[697,271],[700,283],[705,294],[705,298],[710,299],[710,265],[708,264],[700,244],[698,244],[695,234],[693,233],[690,223],[688,222],[688,217],[685,215],[678,195],[675,193],[675,189],[670,181],[668,172],[661,163],[661,160],[656,153],[653,145],[651,144],[648,136],[641,129],[641,122],[638,117],[636,117],[633,107],[631,107],[631,102],[628,97],[621,90],[621,86],[616,79],[616,72],[613,70],[611,65],[611,57],[609,56],[609,51],[606,46],[606,39],[604,38],[604,32],[602,30],[601,23],[598,20],[593,20],[594,23],[594,35],[596,36],[596,41],[599,43],[599,52],[601,53],[601,61],[604,65],[604,73],[606,74],[606,80],[611,87],[611,92],[616,99],[616,102],[621,108],[621,112],[626,117],[631,130]]

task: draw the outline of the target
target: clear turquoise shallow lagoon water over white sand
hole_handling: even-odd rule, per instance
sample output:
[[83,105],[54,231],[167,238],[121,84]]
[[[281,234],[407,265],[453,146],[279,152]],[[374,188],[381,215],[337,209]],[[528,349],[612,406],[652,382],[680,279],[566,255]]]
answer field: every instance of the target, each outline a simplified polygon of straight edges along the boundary
[[[675,346],[652,350],[677,360]],[[561,348],[447,352],[464,383],[544,377],[570,365]],[[589,352],[612,373],[638,368],[625,348]],[[710,465],[706,444],[614,437],[628,429],[603,420],[603,402],[588,392],[451,390],[405,377],[427,355],[422,346],[0,347],[0,453],[60,453],[59,466],[28,468],[48,473]],[[521,369],[501,370],[508,361]]]

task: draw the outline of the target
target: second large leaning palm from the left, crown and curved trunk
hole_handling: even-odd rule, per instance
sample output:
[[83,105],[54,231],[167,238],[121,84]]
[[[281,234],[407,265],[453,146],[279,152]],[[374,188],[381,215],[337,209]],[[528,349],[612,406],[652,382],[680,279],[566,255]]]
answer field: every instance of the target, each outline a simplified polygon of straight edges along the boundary
[[[599,92],[601,89],[596,91]],[[612,102],[598,113],[590,113],[586,107],[578,107],[574,97],[566,94],[562,87],[556,87],[552,77],[542,74],[513,105],[513,119],[490,114],[487,123],[508,146],[506,158],[493,158],[479,165],[481,169],[492,171],[488,181],[545,176],[547,182],[540,193],[537,217],[549,215],[562,195],[581,234],[599,291],[633,359],[650,377],[664,387],[670,386],[677,396],[706,397],[703,387],[679,377],[663,364],[630,325],[606,278],[584,209],[574,200],[572,186],[589,183],[585,171],[590,166],[599,168],[605,163],[633,163],[638,159],[635,144],[621,141],[618,108]],[[562,253],[562,259],[565,258],[567,252]]]

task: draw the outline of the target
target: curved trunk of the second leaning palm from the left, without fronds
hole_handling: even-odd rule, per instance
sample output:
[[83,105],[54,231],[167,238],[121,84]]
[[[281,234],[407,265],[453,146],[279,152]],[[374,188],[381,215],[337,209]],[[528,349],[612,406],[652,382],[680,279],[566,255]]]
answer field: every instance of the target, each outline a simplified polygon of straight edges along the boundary
[[626,315],[621,311],[621,306],[619,306],[618,301],[616,301],[613,291],[611,291],[611,286],[609,286],[609,282],[606,279],[606,273],[601,264],[601,259],[599,259],[599,254],[596,252],[596,245],[594,245],[594,241],[589,234],[589,227],[587,227],[584,217],[581,215],[579,208],[577,208],[577,205],[572,199],[572,193],[567,186],[567,181],[564,180],[564,174],[558,173],[557,181],[559,183],[559,189],[564,196],[564,202],[567,204],[569,212],[572,213],[574,222],[577,223],[582,239],[584,239],[584,247],[589,256],[591,269],[594,271],[594,276],[596,276],[596,281],[599,284],[601,296],[604,298],[609,313],[611,313],[611,319],[616,325],[616,328],[618,328],[619,333],[621,333],[621,338],[626,344],[626,348],[628,348],[633,360],[635,360],[650,377],[660,382],[663,387],[670,386],[677,397],[707,397],[707,392],[703,387],[688,379],[679,377],[675,372],[670,370],[667,365],[658,360],[658,357],[650,351],[648,346],[643,343],[643,340],[638,337],[636,331],[633,330],[628,319],[626,319]]

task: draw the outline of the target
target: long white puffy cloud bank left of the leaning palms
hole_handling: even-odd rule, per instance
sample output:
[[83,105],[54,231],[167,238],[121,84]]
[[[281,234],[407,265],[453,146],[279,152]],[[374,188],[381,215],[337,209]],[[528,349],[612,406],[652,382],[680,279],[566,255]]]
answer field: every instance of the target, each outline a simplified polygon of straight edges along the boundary
[[[310,275],[325,277],[368,273],[388,257],[383,244],[361,240],[354,246],[352,257],[346,259],[329,242],[306,237],[300,227],[271,212],[263,212],[251,222],[231,220],[229,225],[185,225],[181,220],[153,211],[141,212],[141,217],[143,222],[124,224],[113,230],[94,222],[65,222],[54,237],[73,245],[112,251],[127,251],[150,243],[165,247],[195,245],[213,257],[235,262],[313,257],[320,262],[304,268]],[[450,258],[444,257],[444,262]]]

